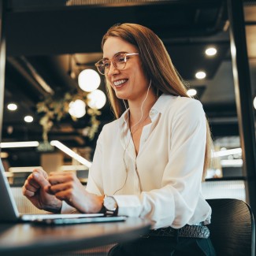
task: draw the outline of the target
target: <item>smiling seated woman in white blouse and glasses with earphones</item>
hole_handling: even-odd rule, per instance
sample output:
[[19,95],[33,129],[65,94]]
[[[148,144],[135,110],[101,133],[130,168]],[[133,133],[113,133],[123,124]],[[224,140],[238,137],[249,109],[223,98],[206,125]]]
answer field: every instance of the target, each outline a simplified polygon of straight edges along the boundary
[[187,97],[149,28],[117,24],[104,35],[102,51],[95,65],[118,119],[98,137],[86,190],[70,173],[47,179],[37,169],[24,195],[40,209],[152,221],[148,236],[117,245],[110,255],[215,255],[205,226],[211,209],[201,194],[211,141],[202,104]]

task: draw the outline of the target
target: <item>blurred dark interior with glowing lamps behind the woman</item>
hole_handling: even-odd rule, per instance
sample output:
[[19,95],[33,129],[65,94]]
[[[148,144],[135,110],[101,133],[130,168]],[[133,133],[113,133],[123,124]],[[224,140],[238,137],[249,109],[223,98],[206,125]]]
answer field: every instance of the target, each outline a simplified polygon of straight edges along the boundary
[[[256,1],[243,1],[243,11],[254,98]],[[245,198],[230,23],[223,0],[9,1],[1,152],[9,180],[20,184],[34,166],[43,166],[48,172],[76,170],[86,183],[98,133],[114,120],[104,98],[104,77],[94,64],[102,58],[102,35],[124,22],[143,24],[162,39],[210,121],[215,158],[207,180],[222,180],[233,192],[239,189],[236,197]],[[96,98],[94,89],[99,90]],[[32,143],[20,147],[17,142]],[[220,184],[210,182],[208,186]]]

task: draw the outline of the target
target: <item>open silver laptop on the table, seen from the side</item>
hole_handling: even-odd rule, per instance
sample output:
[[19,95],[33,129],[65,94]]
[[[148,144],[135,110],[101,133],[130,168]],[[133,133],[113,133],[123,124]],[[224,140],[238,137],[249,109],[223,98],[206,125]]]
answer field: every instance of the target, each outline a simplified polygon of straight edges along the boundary
[[20,214],[0,159],[0,222],[31,222],[33,224],[80,224],[125,221],[127,217],[106,216],[103,213]]

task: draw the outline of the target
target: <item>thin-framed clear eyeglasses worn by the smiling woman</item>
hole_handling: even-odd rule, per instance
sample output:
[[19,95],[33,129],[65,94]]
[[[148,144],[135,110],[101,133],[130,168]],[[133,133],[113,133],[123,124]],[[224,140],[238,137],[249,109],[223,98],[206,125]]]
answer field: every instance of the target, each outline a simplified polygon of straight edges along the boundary
[[113,63],[113,66],[118,69],[122,70],[125,68],[126,62],[129,59],[129,56],[132,55],[139,55],[138,53],[133,54],[125,54],[125,53],[117,53],[113,56],[111,60],[102,58],[102,60],[95,63],[95,66],[98,69],[98,72],[100,72],[102,75],[107,75],[110,69],[111,62]]

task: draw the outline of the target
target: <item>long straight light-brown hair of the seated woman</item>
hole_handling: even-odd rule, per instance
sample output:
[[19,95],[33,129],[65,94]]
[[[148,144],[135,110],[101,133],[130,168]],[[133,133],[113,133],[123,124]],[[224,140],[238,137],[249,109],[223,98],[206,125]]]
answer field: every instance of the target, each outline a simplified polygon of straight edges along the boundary
[[[187,96],[187,87],[176,71],[171,58],[161,39],[149,28],[139,24],[116,24],[109,28],[102,39],[102,49],[106,39],[109,37],[118,37],[131,43],[138,49],[139,58],[142,62],[143,72],[148,80],[151,80],[152,88],[158,95],[165,93],[167,95]],[[106,88],[109,95],[109,101],[113,108],[115,116],[121,117],[124,113],[123,100],[117,98],[113,88],[106,81]],[[206,151],[203,166],[203,176],[210,166],[210,148],[211,135],[208,121],[206,120]]]

